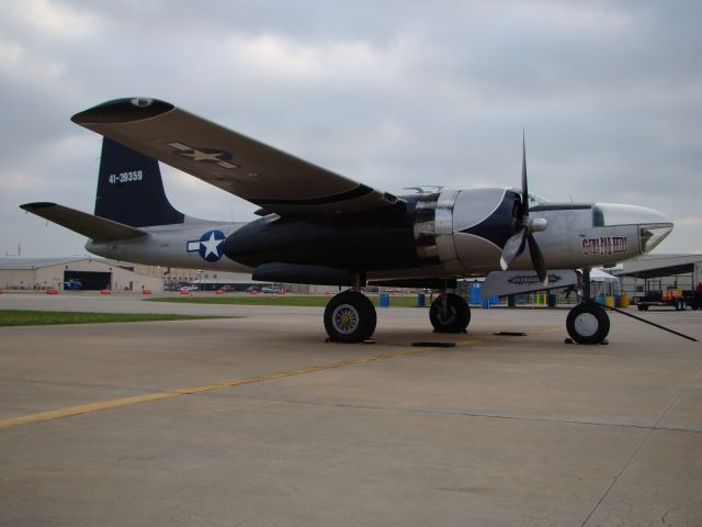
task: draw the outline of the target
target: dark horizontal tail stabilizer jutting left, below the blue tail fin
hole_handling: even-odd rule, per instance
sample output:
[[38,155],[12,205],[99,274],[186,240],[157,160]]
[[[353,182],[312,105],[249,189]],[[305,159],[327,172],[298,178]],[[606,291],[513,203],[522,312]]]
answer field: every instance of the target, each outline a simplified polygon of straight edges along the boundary
[[146,236],[148,233],[139,228],[129,227],[122,223],[93,216],[84,212],[57,205],[56,203],[37,202],[20,205],[32,214],[42,216],[78,234],[88,236],[94,242],[117,242]]

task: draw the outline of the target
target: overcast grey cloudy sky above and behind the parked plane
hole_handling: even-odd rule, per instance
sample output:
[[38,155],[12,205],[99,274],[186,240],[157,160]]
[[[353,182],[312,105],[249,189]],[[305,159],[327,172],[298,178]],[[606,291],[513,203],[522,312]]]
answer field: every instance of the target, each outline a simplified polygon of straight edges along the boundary
[[[702,2],[5,0],[0,257],[83,255],[18,205],[92,212],[100,137],[70,116],[163,99],[377,189],[512,187],[658,209],[702,253]],[[163,168],[177,209],[253,205]]]

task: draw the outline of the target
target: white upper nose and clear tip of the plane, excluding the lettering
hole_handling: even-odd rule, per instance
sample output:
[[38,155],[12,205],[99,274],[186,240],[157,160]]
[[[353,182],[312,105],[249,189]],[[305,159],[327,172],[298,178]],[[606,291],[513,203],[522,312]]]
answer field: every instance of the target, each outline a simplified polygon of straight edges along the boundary
[[650,253],[672,231],[672,222],[663,212],[638,205],[598,203],[595,205],[596,224],[603,227],[637,225],[641,254]]

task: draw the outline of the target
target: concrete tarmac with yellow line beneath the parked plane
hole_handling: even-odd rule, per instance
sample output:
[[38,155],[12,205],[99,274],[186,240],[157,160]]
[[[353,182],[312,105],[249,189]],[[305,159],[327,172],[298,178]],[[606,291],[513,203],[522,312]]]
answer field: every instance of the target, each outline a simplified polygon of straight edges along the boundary
[[[400,307],[340,345],[317,307],[0,309],[240,316],[0,327],[3,526],[702,525],[702,345],[616,313],[608,346],[559,309],[437,335]],[[702,339],[702,311],[641,315]]]

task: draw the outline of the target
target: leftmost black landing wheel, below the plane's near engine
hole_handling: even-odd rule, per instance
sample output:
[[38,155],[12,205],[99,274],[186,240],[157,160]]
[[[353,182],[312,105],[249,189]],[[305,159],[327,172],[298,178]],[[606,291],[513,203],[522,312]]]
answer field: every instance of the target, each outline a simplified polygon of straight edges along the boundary
[[375,306],[358,291],[344,291],[329,301],[325,309],[325,329],[339,343],[361,343],[375,332]]

